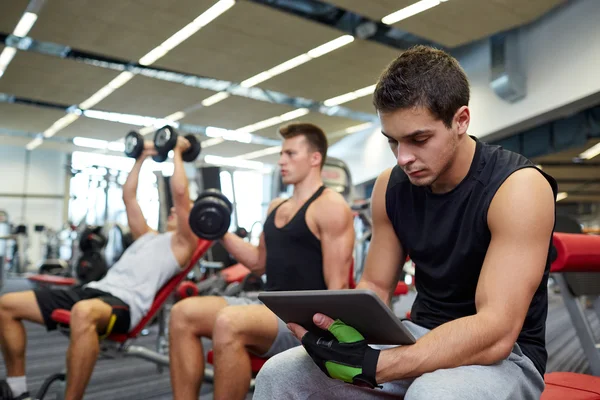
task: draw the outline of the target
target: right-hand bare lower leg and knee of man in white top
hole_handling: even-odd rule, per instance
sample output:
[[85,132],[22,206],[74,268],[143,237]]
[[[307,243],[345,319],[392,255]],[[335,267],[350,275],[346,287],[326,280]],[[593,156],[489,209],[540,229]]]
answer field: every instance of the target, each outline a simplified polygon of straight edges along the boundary
[[71,310],[65,400],[82,399],[100,352],[98,332],[108,325],[112,307],[100,299],[82,300]]

